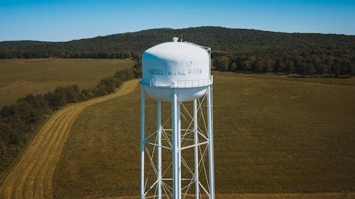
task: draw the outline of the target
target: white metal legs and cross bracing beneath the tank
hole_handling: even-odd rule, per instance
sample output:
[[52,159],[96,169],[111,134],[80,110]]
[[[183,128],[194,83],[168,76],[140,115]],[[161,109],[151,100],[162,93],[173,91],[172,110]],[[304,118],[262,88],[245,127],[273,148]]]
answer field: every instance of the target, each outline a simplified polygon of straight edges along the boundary
[[211,94],[165,103],[142,89],[141,198],[214,199]]

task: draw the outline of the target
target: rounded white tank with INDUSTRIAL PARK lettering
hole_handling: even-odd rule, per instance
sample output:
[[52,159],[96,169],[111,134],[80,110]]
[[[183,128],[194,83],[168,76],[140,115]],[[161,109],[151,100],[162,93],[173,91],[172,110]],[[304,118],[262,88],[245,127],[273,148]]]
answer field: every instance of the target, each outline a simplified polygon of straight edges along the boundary
[[158,101],[172,101],[173,90],[179,101],[200,98],[212,84],[210,49],[190,42],[164,42],[143,53],[144,91]]

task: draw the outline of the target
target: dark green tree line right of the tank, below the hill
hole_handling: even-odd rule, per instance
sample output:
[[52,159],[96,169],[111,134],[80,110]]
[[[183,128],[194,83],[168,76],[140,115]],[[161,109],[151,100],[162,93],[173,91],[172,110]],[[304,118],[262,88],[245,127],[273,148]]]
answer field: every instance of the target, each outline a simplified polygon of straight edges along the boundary
[[296,73],[310,75],[354,75],[355,54],[349,50],[317,47],[309,50],[273,49],[261,52],[215,52],[217,71],[248,73]]

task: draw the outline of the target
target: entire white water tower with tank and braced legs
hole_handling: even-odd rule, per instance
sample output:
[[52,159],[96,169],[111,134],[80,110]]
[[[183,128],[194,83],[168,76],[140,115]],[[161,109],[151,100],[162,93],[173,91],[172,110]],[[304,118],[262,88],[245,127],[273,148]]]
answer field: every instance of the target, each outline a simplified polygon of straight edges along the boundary
[[141,199],[214,199],[210,52],[173,38],[143,53]]

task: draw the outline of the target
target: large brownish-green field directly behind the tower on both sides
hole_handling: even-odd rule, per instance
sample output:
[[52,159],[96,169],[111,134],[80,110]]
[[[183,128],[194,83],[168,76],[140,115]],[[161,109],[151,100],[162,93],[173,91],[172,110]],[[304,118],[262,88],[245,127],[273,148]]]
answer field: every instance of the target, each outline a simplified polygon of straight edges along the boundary
[[[54,198],[138,193],[139,96],[78,115]],[[355,79],[214,73],[216,193],[354,192],[354,101]]]

